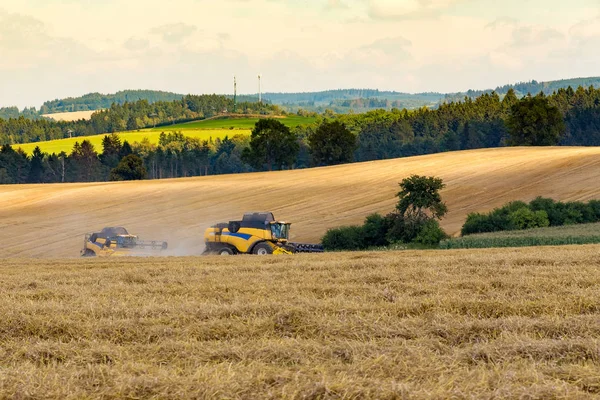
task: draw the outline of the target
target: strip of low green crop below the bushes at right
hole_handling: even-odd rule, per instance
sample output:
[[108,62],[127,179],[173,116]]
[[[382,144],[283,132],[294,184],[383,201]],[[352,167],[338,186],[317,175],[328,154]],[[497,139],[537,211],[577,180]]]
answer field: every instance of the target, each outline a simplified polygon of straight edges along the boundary
[[440,243],[440,247],[442,249],[482,249],[593,243],[600,243],[600,223],[481,233],[444,240]]

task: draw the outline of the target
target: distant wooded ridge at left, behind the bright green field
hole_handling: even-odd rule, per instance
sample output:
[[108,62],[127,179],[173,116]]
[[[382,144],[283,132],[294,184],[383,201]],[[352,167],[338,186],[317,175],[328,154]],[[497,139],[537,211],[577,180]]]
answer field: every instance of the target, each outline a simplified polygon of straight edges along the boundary
[[[258,102],[238,102],[235,108],[236,112],[242,114],[281,113],[277,106]],[[210,118],[233,109],[234,100],[225,96],[188,95],[175,101],[150,103],[138,100],[124,104],[114,103],[110,108],[92,114],[90,120],[53,121],[26,118],[23,115],[17,118],[0,118],[0,143],[31,143],[135,130]]]

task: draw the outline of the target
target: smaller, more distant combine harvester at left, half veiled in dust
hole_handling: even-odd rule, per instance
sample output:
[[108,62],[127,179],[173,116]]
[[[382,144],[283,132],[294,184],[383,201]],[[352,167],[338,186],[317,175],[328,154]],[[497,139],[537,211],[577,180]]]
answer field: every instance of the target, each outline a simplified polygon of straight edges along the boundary
[[123,227],[108,227],[100,232],[85,234],[81,256],[152,256],[160,255],[167,247],[167,242],[163,241],[141,241]]

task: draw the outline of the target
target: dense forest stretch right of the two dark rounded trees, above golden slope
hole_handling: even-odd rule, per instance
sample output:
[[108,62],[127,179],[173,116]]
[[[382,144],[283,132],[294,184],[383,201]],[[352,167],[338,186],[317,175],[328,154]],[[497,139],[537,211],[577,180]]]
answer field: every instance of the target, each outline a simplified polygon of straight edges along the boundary
[[[559,89],[519,99],[513,90],[415,111],[340,115],[358,138],[357,161],[510,145],[600,145],[600,90]],[[309,128],[310,129],[310,128]]]

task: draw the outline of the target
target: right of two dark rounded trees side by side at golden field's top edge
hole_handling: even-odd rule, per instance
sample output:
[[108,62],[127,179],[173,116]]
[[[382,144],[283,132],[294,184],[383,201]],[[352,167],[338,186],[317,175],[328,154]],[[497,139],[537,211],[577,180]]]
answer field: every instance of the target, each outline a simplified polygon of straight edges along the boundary
[[354,161],[356,136],[339,121],[325,121],[308,136],[315,165],[336,165]]

